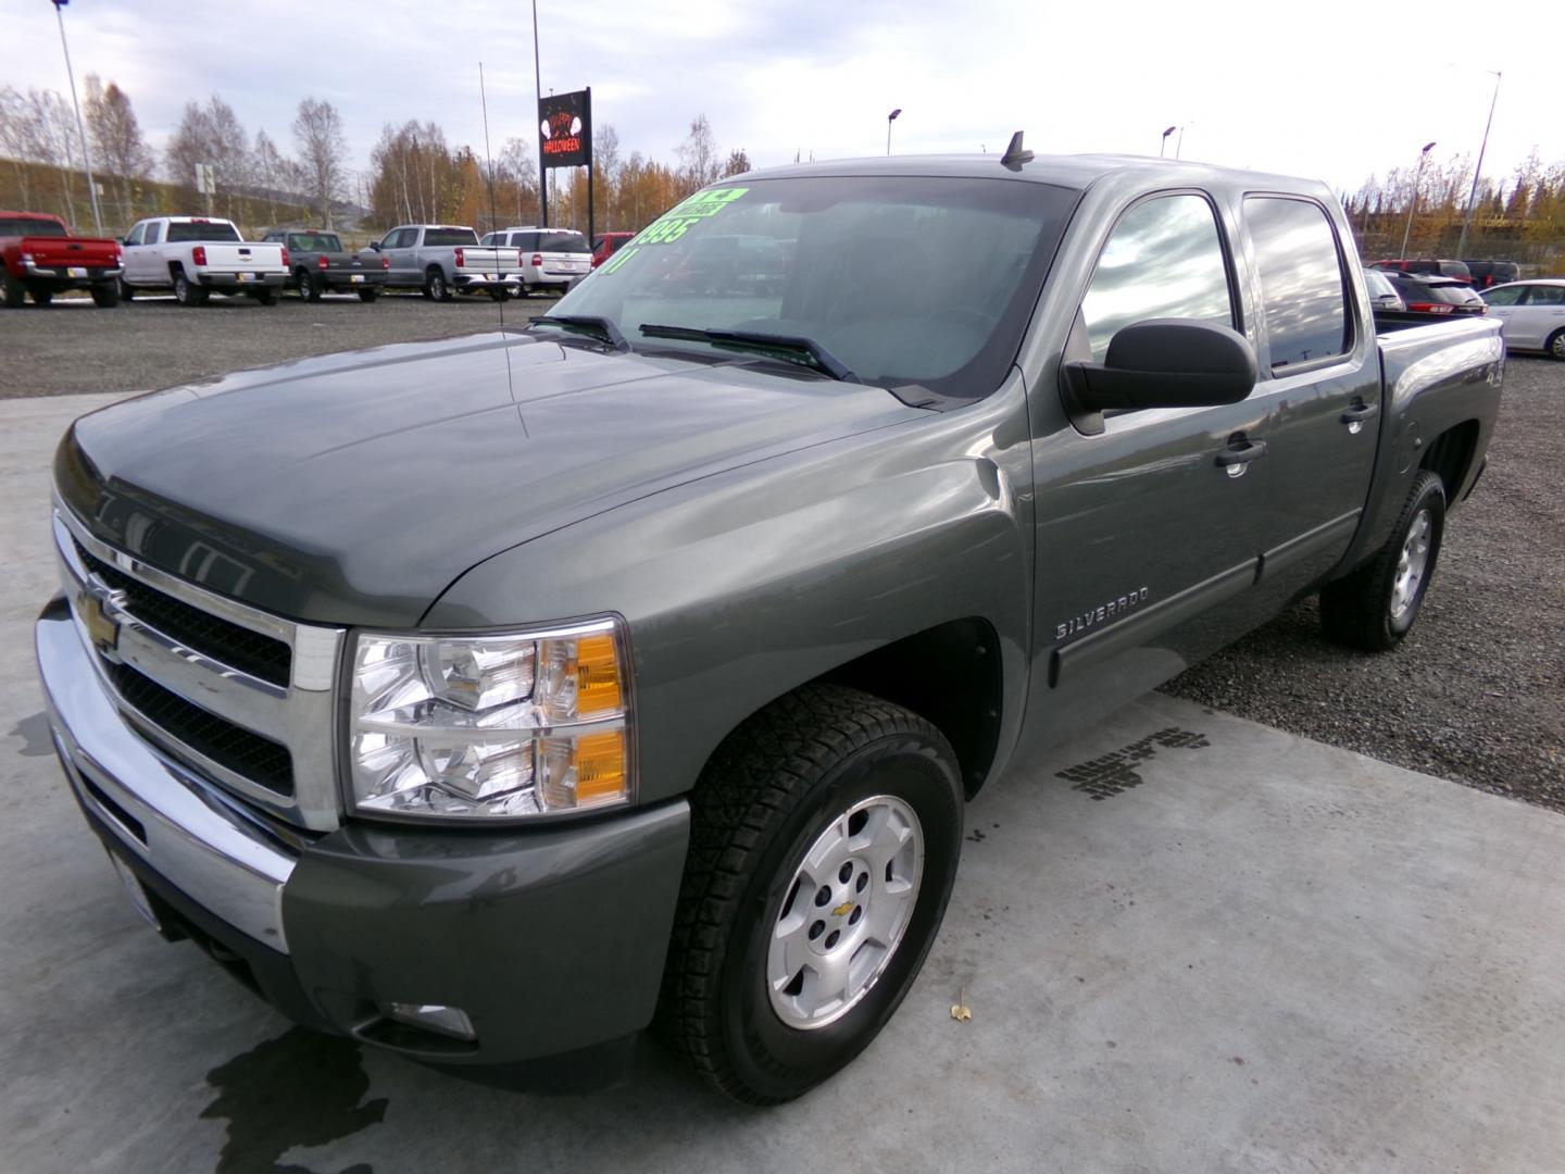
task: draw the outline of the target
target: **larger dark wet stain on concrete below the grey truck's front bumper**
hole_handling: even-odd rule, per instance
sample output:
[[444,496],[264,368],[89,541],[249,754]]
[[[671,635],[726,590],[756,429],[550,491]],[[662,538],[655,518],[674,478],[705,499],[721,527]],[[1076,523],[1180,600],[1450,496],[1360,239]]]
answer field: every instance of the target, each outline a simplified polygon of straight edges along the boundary
[[[207,1074],[218,1096],[202,1118],[227,1118],[218,1174],[313,1174],[282,1165],[294,1146],[324,1146],[385,1119],[385,1097],[365,1105],[369,1077],[358,1044],[294,1027]],[[338,1174],[372,1174],[368,1163]]]

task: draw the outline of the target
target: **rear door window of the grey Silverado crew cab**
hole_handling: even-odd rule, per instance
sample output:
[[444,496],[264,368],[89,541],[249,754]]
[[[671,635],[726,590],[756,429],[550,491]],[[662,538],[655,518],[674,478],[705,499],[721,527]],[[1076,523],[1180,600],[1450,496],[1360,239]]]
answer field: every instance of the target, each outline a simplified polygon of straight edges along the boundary
[[1347,354],[1347,282],[1326,210],[1311,200],[1250,196],[1244,221],[1261,279],[1272,369]]

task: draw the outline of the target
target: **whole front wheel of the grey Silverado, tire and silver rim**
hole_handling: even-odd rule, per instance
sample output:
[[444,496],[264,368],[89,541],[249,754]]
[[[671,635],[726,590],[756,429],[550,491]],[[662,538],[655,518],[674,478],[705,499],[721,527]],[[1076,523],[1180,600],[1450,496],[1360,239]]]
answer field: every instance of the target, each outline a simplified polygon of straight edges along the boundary
[[747,1104],[826,1080],[912,986],[961,837],[956,756],[917,714],[839,686],[761,711],[692,798],[659,1035]]

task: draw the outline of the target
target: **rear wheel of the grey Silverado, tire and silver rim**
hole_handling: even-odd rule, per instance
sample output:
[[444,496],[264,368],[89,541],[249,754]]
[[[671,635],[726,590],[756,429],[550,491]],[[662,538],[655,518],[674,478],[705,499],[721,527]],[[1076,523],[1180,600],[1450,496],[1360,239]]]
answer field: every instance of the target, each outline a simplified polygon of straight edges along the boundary
[[[1418,620],[1440,560],[1446,528],[1446,490],[1429,470],[1413,479],[1407,502],[1385,546],[1363,567],[1321,589],[1321,629],[1335,643],[1383,653],[1402,642]],[[1423,570],[1408,589],[1407,565],[1418,562],[1423,534]],[[1410,590],[1410,593],[1408,593]]]

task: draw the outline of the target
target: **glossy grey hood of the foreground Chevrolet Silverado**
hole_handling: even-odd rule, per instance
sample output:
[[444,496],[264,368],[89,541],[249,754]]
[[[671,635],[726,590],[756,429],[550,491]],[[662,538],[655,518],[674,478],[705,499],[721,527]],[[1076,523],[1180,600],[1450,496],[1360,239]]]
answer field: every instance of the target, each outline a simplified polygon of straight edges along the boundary
[[925,415],[770,365],[484,335],[116,404],[66,434],[55,482],[100,538],[214,592],[315,623],[410,626],[502,549]]

